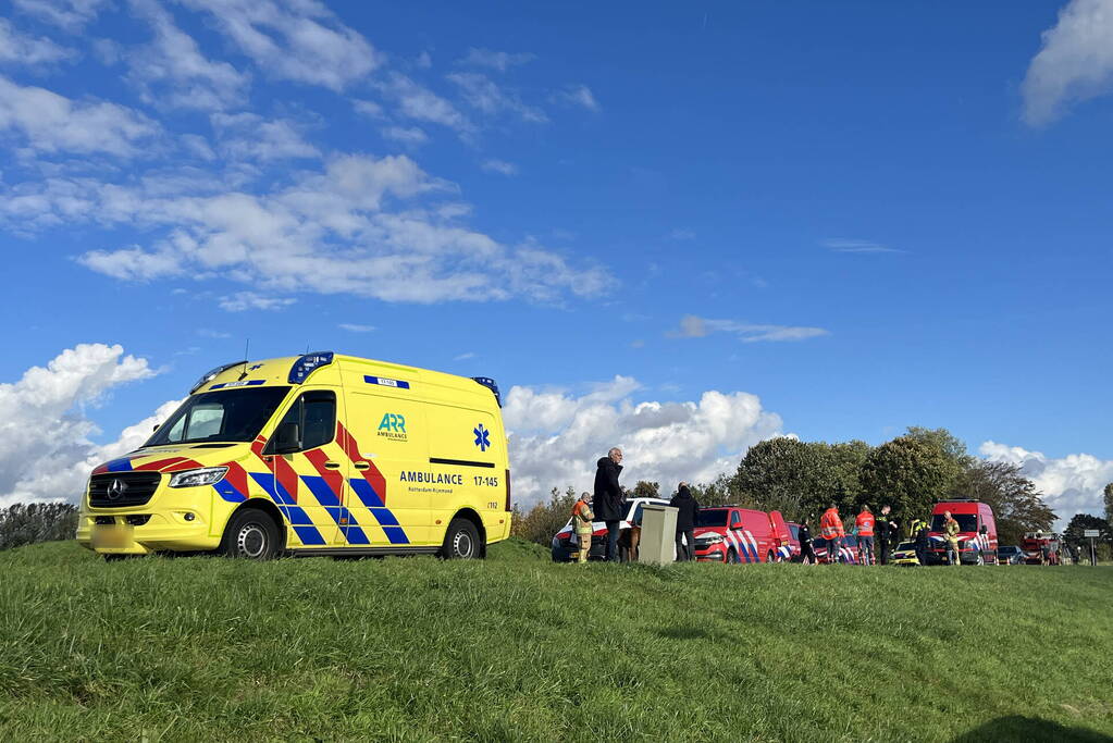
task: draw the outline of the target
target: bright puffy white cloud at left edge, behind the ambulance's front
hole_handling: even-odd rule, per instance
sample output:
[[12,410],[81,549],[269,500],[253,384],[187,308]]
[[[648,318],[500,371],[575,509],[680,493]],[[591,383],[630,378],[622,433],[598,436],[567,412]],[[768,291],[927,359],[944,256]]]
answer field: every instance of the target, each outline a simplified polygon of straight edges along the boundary
[[132,426],[119,440],[98,446],[90,440],[97,427],[83,409],[154,374],[146,359],[125,356],[120,346],[80,344],[18,382],[0,384],[0,506],[78,501],[93,466],[150,435],[150,426],[146,436]]

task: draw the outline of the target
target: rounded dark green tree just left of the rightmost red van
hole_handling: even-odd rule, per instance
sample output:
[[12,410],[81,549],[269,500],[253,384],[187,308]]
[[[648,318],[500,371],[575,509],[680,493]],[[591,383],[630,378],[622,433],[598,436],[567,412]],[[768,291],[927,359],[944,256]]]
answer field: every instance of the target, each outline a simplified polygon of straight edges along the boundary
[[944,450],[923,437],[900,436],[873,449],[861,467],[870,503],[888,503],[903,524],[926,516],[959,473]]

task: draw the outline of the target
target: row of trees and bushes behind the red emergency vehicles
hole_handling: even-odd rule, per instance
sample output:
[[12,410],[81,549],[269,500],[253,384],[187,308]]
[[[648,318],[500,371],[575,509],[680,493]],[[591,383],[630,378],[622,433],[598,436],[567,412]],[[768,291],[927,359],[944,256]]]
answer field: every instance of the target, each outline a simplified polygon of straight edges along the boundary
[[[732,474],[691,489],[706,506],[779,511],[788,521],[809,518],[812,524],[833,503],[849,523],[863,505],[876,512],[888,504],[903,534],[914,519],[927,517],[935,503],[973,498],[993,508],[1001,544],[1020,544],[1025,532],[1050,532],[1056,521],[1043,494],[1017,465],[971,455],[946,428],[913,426],[879,446],[770,438],[751,446]],[[661,495],[658,483],[644,481],[627,493],[628,497]],[[548,502],[526,512],[515,506],[512,533],[548,545],[568,522],[575,495],[571,486],[563,492],[554,487]],[[1092,518],[1105,524],[1107,534],[1113,484],[1105,488],[1105,519]]]

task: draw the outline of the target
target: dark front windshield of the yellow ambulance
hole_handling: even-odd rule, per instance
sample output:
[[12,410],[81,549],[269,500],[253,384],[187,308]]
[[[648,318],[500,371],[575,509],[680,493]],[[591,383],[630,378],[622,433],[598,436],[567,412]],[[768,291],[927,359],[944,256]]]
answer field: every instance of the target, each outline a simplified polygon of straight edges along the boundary
[[191,395],[144,446],[254,440],[288,392],[242,387]]

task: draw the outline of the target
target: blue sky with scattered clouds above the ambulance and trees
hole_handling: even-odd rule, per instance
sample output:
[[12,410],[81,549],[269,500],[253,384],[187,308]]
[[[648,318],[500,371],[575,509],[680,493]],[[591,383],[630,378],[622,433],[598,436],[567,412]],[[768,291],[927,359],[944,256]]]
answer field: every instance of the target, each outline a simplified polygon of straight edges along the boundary
[[0,380],[146,359],[75,393],[98,444],[247,338],[619,412],[747,393],[779,425],[699,473],[771,433],[945,426],[1090,456],[1045,482],[1089,504],[1110,4],[14,0]]

